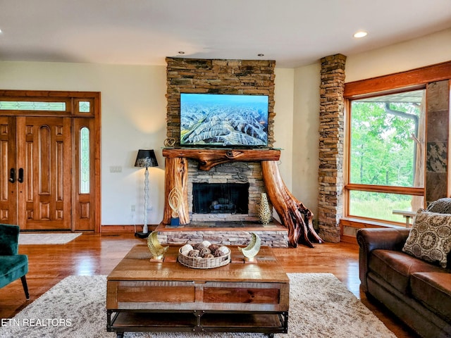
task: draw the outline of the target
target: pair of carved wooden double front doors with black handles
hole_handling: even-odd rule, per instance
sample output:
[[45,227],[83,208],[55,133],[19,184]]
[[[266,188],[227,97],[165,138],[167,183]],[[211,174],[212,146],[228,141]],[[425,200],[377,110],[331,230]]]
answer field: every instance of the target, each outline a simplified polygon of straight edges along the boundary
[[1,222],[21,230],[70,230],[70,118],[0,119]]

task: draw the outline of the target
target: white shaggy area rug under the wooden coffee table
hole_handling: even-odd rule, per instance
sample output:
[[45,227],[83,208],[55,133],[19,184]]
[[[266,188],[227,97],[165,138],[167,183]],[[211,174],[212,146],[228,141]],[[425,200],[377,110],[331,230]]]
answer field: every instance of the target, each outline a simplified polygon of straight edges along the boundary
[[[288,334],[278,338],[395,338],[334,275],[291,273]],[[30,290],[32,292],[32,290]],[[106,332],[106,276],[70,276],[11,320],[2,320],[0,337],[97,338]],[[127,338],[261,338],[256,333],[192,334],[126,332]]]

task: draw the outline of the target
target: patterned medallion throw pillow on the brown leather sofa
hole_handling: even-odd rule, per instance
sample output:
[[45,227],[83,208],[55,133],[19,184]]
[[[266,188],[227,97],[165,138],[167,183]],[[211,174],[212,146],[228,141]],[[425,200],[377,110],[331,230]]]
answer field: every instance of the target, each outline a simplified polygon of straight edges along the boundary
[[451,214],[419,209],[402,251],[446,268],[451,251]]

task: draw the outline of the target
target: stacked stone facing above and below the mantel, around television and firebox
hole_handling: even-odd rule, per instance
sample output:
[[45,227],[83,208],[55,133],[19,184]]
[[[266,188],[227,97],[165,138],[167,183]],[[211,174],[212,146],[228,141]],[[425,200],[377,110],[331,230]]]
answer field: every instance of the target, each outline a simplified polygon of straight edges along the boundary
[[[167,137],[180,146],[180,93],[268,95],[268,146],[274,141],[274,68],[276,61],[166,58]],[[192,183],[249,182],[249,212],[243,214],[197,214],[192,220],[258,220],[260,193],[266,192],[259,162],[234,162],[211,170],[188,162],[188,204],[192,211]]]

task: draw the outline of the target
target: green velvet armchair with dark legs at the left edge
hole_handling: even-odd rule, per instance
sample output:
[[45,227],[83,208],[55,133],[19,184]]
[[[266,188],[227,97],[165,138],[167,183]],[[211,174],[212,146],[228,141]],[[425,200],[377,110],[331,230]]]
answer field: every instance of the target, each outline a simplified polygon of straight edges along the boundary
[[28,272],[28,256],[18,254],[18,239],[18,225],[0,224],[0,287],[20,278],[25,297],[30,299],[25,279]]

